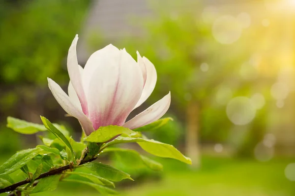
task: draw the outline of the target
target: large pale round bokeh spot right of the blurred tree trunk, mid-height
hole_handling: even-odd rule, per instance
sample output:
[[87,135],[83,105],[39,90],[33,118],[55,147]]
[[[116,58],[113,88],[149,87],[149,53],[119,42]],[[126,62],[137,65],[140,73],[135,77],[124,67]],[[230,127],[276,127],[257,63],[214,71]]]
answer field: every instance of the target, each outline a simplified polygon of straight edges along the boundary
[[256,108],[250,98],[236,97],[227,104],[226,114],[232,123],[244,125],[254,119]]

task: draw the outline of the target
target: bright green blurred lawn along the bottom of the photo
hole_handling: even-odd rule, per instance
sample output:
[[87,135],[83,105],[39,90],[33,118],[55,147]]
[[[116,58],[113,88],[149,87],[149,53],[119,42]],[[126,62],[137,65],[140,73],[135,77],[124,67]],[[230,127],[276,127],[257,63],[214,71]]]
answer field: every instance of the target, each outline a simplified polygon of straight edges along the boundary
[[[191,171],[173,160],[162,160],[162,179],[146,179],[119,186],[123,196],[294,196],[295,182],[284,174],[291,159],[274,159],[266,163],[256,160],[236,160],[204,157],[203,167]],[[126,181],[125,181],[126,182]],[[136,185],[136,186],[133,186]],[[90,187],[61,182],[54,192],[35,196],[97,195]]]

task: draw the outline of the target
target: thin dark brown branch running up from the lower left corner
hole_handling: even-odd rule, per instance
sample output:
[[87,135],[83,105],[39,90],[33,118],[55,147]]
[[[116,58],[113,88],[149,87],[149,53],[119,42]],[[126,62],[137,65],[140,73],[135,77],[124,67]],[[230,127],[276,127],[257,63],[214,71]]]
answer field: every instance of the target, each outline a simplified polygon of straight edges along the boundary
[[[86,156],[85,156],[86,157]],[[82,161],[80,162],[80,164],[78,166],[81,166],[85,163],[88,163],[88,162],[91,162],[91,161],[94,161],[97,157],[95,158],[91,158],[89,160],[85,160],[85,159],[82,159]],[[45,177],[48,177],[48,176],[51,176],[51,175],[57,175],[57,174],[60,174],[62,173],[63,171],[66,171],[66,170],[70,170],[72,169],[72,165],[71,164],[68,164],[66,166],[62,166],[62,167],[59,167],[57,169],[54,169],[54,170],[51,170],[49,172],[45,172],[45,173],[42,173],[39,177],[37,177],[35,180],[39,180],[39,179],[42,179],[42,178],[45,178]],[[23,181],[20,181],[20,182],[17,182],[13,185],[10,185],[8,187],[5,187],[3,189],[0,189],[0,194],[1,193],[5,193],[5,192],[11,192],[11,191],[14,191],[17,187],[19,186],[23,186],[25,184],[28,184],[30,183],[30,180],[29,178],[27,178],[26,180],[23,180]]]

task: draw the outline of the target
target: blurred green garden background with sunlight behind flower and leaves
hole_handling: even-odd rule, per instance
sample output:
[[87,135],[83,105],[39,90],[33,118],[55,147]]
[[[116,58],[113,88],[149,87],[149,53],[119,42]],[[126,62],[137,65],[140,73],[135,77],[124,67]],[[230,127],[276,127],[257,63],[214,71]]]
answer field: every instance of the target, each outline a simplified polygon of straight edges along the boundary
[[[136,180],[118,184],[122,195],[294,196],[294,19],[294,0],[0,0],[0,163],[40,142],[6,128],[7,116],[81,135],[47,87],[50,77],[67,88],[79,34],[82,66],[110,43],[153,62],[156,88],[131,116],[171,91],[175,121],[148,136],[194,163],[157,158],[164,172],[151,172],[108,157]],[[62,182],[41,195],[52,194],[97,193]]]

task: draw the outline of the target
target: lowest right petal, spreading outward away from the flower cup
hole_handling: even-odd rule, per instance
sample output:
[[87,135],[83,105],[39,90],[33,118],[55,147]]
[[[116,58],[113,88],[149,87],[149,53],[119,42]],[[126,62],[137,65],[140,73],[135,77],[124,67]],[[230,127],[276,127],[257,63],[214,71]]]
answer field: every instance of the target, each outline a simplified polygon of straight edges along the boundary
[[123,124],[124,127],[135,129],[160,119],[170,106],[171,95],[168,95],[152,104],[148,109],[136,115],[133,119]]

